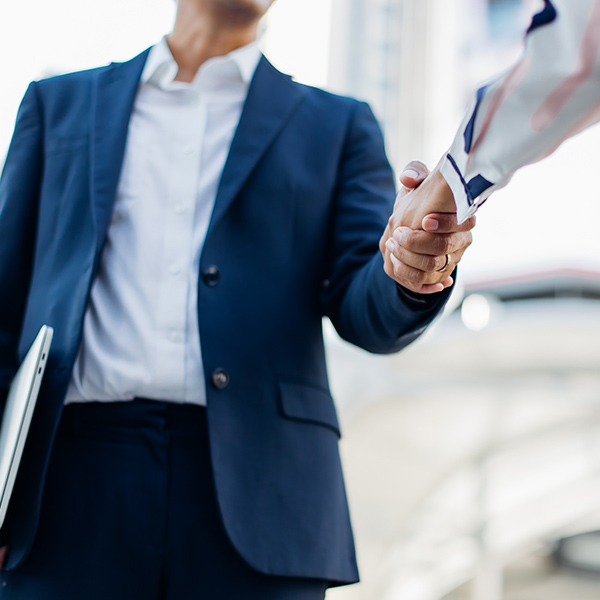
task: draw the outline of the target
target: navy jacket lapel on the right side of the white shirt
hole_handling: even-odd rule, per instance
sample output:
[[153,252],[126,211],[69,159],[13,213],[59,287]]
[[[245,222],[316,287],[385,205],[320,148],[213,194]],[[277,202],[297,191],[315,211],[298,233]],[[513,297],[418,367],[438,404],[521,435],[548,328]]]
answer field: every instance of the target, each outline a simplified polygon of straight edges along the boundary
[[209,233],[223,217],[260,158],[304,95],[301,86],[263,56],[248,90],[219,184]]

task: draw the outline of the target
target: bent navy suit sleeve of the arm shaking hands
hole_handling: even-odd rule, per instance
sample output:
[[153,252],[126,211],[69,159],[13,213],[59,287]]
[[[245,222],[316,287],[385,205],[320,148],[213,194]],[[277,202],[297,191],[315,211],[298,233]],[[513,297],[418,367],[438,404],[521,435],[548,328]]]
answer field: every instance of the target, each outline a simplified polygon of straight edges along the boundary
[[381,131],[371,109],[357,103],[339,169],[323,303],[344,339],[375,353],[412,342],[450,295],[445,290],[417,298],[385,274],[379,238],[394,197]]

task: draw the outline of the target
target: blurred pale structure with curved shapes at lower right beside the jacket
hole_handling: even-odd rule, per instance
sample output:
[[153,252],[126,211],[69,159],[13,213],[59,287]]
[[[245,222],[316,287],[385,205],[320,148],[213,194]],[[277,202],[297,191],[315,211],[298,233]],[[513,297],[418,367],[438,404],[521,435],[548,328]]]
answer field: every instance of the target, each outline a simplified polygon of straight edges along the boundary
[[363,583],[328,600],[600,597],[598,538],[559,544],[600,528],[599,300],[600,273],[531,273],[395,356],[329,336]]

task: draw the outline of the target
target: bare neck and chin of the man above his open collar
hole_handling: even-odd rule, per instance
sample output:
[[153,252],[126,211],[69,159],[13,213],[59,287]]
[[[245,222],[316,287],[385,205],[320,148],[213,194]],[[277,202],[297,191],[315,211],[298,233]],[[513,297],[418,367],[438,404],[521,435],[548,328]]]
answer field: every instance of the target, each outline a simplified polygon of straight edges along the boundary
[[175,80],[189,83],[209,58],[224,56],[256,40],[261,17],[222,0],[179,0],[175,26],[167,36],[179,67]]

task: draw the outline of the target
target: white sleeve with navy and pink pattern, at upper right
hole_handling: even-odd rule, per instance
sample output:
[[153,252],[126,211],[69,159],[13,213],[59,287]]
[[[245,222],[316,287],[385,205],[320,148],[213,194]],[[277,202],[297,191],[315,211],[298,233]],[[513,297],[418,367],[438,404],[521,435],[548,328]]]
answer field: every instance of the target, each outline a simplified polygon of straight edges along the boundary
[[598,120],[600,0],[545,0],[521,60],[479,90],[442,164],[459,221]]

